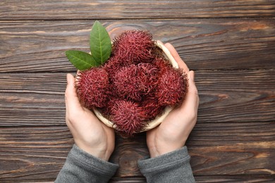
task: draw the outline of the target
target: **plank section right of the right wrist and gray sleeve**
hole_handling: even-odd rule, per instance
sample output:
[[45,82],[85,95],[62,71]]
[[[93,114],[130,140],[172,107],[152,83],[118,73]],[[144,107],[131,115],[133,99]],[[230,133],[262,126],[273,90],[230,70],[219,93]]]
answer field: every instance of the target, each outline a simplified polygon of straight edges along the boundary
[[274,137],[275,122],[197,123],[186,146],[195,175],[274,175]]

